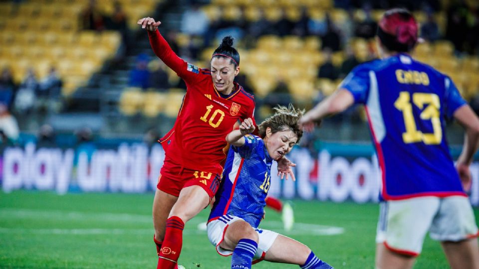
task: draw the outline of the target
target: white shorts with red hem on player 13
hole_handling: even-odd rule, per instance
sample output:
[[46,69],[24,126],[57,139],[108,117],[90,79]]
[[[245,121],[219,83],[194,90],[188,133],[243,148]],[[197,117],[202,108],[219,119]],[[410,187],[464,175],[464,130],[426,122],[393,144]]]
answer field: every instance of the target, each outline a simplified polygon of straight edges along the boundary
[[477,237],[478,226],[469,199],[427,196],[380,203],[376,243],[396,253],[417,256],[428,231],[437,241]]

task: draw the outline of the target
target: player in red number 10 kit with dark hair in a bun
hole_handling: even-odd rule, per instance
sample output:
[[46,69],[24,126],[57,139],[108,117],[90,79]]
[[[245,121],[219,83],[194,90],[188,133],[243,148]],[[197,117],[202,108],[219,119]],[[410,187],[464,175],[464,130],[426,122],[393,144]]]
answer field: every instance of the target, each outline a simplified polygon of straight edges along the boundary
[[[226,134],[243,119],[251,118],[254,123],[254,98],[234,82],[240,72],[240,55],[232,47],[232,37],[223,39],[208,70],[185,62],[173,52],[158,31],[160,21],[146,17],[138,24],[148,30],[155,54],[187,85],[175,125],[160,139],[166,156],[153,201],[158,268],[173,269],[180,256],[185,223],[208,206],[220,184]],[[293,176],[289,165],[294,164],[287,159],[282,163],[283,175]]]

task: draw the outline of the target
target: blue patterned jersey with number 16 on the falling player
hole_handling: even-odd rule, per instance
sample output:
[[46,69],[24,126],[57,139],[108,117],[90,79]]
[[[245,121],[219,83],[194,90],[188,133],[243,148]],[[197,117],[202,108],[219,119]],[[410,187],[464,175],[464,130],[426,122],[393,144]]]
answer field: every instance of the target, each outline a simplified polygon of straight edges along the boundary
[[242,218],[253,228],[261,221],[271,183],[272,159],[260,137],[248,134],[244,141],[240,147],[230,147],[208,222],[226,214]]

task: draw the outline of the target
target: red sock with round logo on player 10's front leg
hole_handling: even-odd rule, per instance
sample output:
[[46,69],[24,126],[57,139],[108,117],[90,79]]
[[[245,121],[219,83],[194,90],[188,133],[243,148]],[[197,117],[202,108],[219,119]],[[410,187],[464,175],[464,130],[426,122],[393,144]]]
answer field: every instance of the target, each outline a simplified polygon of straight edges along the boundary
[[174,269],[177,267],[183,245],[183,228],[185,224],[177,216],[166,221],[165,239],[161,244],[157,269]]

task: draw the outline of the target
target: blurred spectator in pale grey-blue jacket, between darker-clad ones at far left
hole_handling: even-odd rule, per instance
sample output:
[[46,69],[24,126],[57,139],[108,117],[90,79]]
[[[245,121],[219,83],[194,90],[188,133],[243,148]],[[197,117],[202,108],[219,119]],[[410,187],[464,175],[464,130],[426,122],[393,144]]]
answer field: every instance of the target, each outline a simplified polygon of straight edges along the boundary
[[39,88],[40,84],[36,79],[34,71],[32,68],[29,68],[15,96],[15,110],[19,113],[29,113],[33,108],[36,92]]

